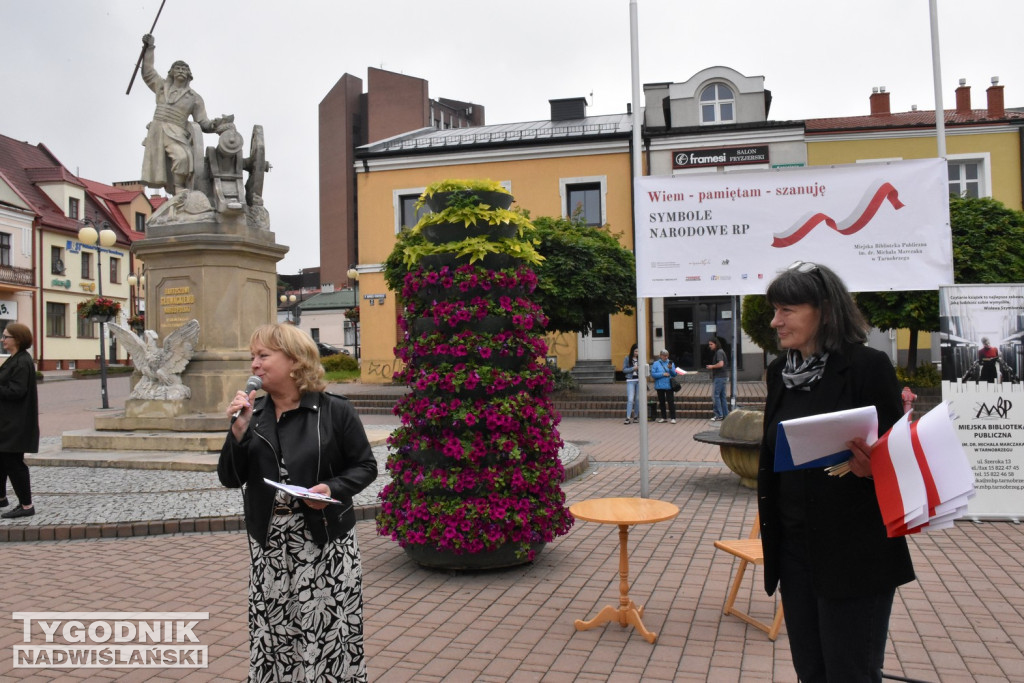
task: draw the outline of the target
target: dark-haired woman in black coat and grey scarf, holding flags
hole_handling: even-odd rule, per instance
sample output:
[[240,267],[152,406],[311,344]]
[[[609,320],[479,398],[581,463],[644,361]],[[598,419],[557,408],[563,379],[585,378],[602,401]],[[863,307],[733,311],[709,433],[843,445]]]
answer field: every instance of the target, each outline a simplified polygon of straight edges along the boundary
[[864,346],[868,326],[843,282],[798,261],[768,287],[784,355],[768,368],[758,472],[765,589],[779,588],[801,681],[881,681],[896,587],[913,581],[906,541],[887,538],[870,447],[848,443],[852,474],[774,471],[784,420],[873,405],[882,435],[902,416],[889,357]]

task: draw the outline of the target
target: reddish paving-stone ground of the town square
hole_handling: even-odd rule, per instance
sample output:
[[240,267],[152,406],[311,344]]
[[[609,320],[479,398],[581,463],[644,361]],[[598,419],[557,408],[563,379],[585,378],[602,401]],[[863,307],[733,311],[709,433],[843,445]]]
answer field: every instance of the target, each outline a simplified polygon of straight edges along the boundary
[[[393,418],[392,418],[393,420]],[[366,419],[372,423],[373,420]],[[630,533],[630,595],[645,603],[650,644],[611,624],[578,632],[618,597],[614,527],[578,521],[538,559],[487,572],[425,569],[372,520],[357,523],[365,571],[367,653],[374,681],[794,681],[785,629],[772,643],[731,616],[722,601],[733,563],[713,542],[740,538],[756,513],[755,494],[692,436],[703,421],[649,428],[651,498],[678,505],[671,522]],[[589,467],[567,481],[567,503],[640,490],[636,425],[568,419],[565,440]],[[34,467],[33,476],[46,468]],[[89,469],[89,468],[82,468]],[[65,499],[102,496],[77,473],[53,474]],[[209,490],[197,473],[154,487],[137,471],[93,472],[152,496]],[[215,480],[215,479],[214,479]],[[163,486],[163,487],[161,487]],[[180,486],[180,488],[174,488]],[[205,486],[205,487],[204,487]],[[238,492],[227,492],[227,497]],[[42,499],[40,499],[42,500]],[[137,510],[139,516],[144,513]],[[42,514],[42,512],[40,513]],[[195,510],[186,514],[195,514]],[[11,522],[4,522],[10,524]],[[910,539],[919,580],[897,591],[885,671],[921,681],[1024,681],[1024,528],[1011,522],[958,522]],[[208,611],[196,629],[209,646],[206,669],[13,669],[20,624],[0,618],[0,680],[241,681],[247,673],[249,557],[240,531],[38,541],[0,545],[0,613],[14,611]],[[760,571],[754,572],[760,582]],[[740,601],[767,618],[774,609],[755,583]]]

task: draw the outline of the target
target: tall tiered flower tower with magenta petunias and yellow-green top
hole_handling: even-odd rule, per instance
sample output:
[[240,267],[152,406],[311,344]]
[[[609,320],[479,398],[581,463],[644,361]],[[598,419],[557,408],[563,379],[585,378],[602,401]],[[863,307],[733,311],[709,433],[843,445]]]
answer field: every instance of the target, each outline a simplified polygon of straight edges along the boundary
[[532,225],[490,181],[443,181],[399,245],[411,391],[395,405],[378,528],[420,564],[511,566],[568,531]]

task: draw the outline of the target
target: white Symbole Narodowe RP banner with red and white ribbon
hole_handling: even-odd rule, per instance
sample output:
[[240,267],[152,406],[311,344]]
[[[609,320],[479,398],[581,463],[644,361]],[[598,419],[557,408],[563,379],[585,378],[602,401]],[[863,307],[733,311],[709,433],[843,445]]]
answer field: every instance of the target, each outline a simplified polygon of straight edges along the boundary
[[641,297],[762,294],[797,260],[829,266],[854,292],[952,283],[942,159],[636,183]]

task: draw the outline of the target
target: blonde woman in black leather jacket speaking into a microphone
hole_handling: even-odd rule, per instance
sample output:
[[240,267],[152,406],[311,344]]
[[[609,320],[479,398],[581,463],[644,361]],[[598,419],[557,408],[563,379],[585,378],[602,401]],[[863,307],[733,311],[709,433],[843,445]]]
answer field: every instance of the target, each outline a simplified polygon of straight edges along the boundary
[[[293,325],[249,341],[266,395],[239,391],[217,463],[243,486],[252,567],[250,681],[366,681],[362,567],[352,497],[377,461],[347,399],[325,393],[316,345]],[[237,416],[237,418],[236,418]],[[341,505],[298,500],[264,481],[304,486]]]

